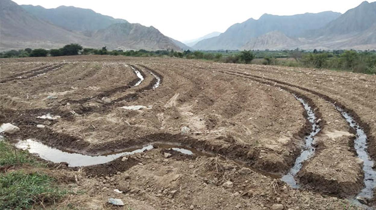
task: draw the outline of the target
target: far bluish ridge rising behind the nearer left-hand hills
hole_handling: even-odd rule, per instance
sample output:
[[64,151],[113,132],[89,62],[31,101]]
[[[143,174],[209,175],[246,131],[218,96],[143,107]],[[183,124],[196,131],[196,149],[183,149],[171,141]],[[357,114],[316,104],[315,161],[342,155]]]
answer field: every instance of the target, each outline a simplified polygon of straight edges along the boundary
[[74,31],[95,31],[105,29],[115,23],[128,23],[126,20],[101,15],[91,9],[73,6],[59,6],[54,9],[32,5],[21,5],[21,7],[41,20]]

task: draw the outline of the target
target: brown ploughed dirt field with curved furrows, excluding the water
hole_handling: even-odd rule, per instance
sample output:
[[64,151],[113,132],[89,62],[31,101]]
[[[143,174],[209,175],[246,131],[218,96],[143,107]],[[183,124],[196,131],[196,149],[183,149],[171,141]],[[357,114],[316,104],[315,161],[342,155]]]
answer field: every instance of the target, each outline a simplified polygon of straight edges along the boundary
[[[123,56],[2,59],[0,65],[0,124],[20,128],[6,136],[9,141],[34,139],[90,156],[160,144],[126,159],[82,169],[59,164],[57,169],[52,164],[46,169],[49,173],[78,178],[60,179],[74,192],[85,192],[68,198],[77,207],[376,207],[373,198],[368,207],[351,204],[364,188],[364,168],[354,146],[355,130],[336,109],[349,113],[364,130],[367,152],[374,160],[375,76]],[[309,104],[321,129],[314,136],[313,156],[295,175],[299,189],[280,180],[294,166],[312,132],[296,97]],[[38,118],[46,114],[61,118]],[[37,128],[38,124],[46,127]],[[126,205],[111,206],[108,198],[120,198]]]

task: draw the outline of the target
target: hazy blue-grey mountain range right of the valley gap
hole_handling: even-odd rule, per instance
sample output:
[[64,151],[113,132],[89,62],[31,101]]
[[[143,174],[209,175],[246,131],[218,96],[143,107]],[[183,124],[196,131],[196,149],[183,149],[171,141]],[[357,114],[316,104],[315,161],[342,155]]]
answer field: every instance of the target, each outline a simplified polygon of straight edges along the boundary
[[376,48],[376,2],[363,2],[345,14],[337,12],[277,16],[264,14],[204,39],[197,50],[281,50]]

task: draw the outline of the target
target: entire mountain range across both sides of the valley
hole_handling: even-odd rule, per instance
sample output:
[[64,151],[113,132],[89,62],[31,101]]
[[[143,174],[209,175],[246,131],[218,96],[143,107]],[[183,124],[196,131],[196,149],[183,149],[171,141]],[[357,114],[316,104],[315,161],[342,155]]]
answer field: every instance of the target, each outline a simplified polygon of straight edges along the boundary
[[153,26],[129,23],[91,9],[17,5],[0,0],[0,50],[59,48],[69,43],[121,50],[376,49],[376,2],[344,14],[264,14],[182,43]]

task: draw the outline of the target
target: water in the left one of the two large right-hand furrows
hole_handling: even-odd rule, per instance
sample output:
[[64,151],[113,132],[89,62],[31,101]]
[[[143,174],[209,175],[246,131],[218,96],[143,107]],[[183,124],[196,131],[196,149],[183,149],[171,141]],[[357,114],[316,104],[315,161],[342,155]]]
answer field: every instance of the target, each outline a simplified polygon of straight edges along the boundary
[[312,145],[312,143],[314,137],[318,132],[320,132],[321,129],[316,123],[316,116],[312,107],[309,106],[308,103],[303,100],[303,98],[297,97],[296,95],[294,95],[294,97],[303,104],[304,110],[308,115],[308,121],[312,125],[312,131],[305,137],[305,148],[300,153],[300,156],[295,160],[293,168],[291,168],[288,174],[284,175],[281,180],[290,185],[292,188],[299,188],[299,184],[296,182],[294,177],[302,168],[303,162],[314,155],[315,147]]

